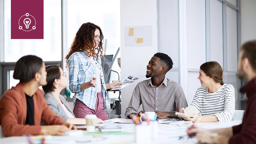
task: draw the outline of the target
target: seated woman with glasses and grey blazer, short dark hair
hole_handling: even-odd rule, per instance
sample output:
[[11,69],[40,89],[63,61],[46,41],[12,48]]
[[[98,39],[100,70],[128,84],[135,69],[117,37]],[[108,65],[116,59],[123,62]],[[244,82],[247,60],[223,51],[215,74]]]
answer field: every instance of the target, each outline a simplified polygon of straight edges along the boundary
[[[44,99],[50,109],[56,113],[57,116],[64,119],[71,124],[86,124],[85,118],[75,118],[74,113],[68,102],[62,96],[61,90],[67,87],[66,73],[63,72],[59,65],[49,65],[46,67],[47,85],[43,86]],[[98,123],[103,123],[98,119]]]

